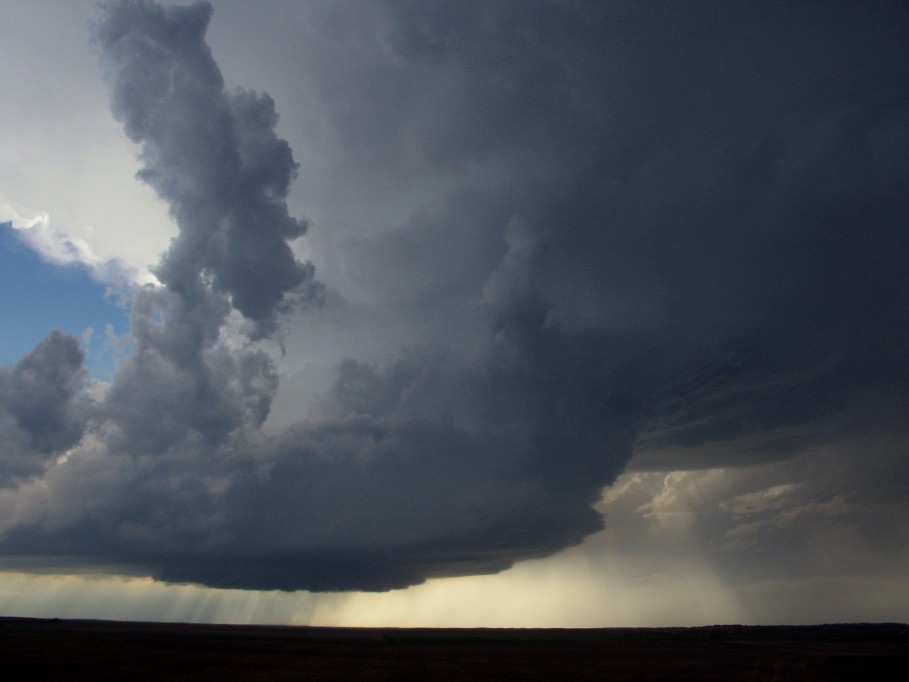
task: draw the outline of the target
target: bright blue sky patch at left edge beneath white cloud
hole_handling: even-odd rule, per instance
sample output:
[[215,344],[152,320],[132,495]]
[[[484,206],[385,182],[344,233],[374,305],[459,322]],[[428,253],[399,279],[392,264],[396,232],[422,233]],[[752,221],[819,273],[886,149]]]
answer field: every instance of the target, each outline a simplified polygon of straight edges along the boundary
[[54,265],[0,224],[0,365],[15,363],[54,327],[72,334],[85,350],[85,365],[108,380],[123,342],[129,311],[81,265]]

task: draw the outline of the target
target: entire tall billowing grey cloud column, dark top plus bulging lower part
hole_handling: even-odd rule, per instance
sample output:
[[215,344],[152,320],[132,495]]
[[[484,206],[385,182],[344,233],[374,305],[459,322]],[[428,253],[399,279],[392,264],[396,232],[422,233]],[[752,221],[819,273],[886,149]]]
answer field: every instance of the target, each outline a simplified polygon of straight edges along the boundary
[[113,113],[141,144],[138,176],[180,228],[156,270],[163,288],[137,295],[136,353],[107,401],[130,450],[160,452],[189,432],[215,447],[260,426],[274,371],[261,352],[219,344],[226,316],[235,308],[259,338],[319,291],[287,243],[306,223],[287,213],[296,164],[275,135],[274,103],[225,92],[204,40],[211,11],[121,3],[97,30]]

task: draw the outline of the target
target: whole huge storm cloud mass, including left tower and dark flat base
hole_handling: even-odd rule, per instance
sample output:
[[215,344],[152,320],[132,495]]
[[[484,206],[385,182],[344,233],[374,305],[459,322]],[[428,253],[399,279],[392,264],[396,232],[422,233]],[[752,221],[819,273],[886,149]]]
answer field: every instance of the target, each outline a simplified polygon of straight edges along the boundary
[[[109,386],[60,332],[0,370],[6,557],[387,590],[581,542],[629,462],[905,443],[900,40],[848,8],[301,8],[338,183],[321,282],[211,6],[101,10],[113,115],[179,233]],[[287,358],[318,388],[279,391]]]

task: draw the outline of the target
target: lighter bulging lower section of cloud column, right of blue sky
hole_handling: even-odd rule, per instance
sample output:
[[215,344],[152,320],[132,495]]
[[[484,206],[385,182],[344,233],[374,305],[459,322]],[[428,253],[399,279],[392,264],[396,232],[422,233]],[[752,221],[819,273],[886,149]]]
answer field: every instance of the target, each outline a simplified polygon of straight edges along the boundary
[[260,350],[217,344],[228,308],[217,297],[203,300],[188,304],[163,290],[136,296],[135,352],[121,361],[103,405],[121,447],[161,452],[190,437],[213,448],[268,416],[273,361]]

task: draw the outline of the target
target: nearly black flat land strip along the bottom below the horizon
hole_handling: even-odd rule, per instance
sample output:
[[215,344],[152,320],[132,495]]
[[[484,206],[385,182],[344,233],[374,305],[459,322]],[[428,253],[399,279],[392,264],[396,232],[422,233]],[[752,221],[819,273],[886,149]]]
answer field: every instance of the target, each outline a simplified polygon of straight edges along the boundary
[[46,680],[904,680],[909,625],[484,630],[0,618],[0,661],[5,679]]

